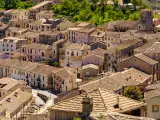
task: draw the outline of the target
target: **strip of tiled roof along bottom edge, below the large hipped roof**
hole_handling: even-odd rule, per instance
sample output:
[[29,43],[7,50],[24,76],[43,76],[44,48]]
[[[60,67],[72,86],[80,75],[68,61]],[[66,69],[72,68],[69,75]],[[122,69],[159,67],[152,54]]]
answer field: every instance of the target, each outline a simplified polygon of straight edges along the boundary
[[102,113],[102,116],[98,113],[91,113],[87,120],[154,120],[152,118],[145,118],[145,117],[137,117],[131,115],[120,114],[116,112],[109,112],[109,113]]

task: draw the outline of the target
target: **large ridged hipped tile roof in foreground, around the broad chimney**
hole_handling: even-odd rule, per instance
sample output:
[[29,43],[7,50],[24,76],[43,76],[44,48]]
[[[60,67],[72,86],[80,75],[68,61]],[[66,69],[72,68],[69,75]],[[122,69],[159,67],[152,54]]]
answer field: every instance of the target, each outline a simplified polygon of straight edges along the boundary
[[[54,106],[49,107],[52,110],[60,110],[66,112],[82,112],[82,99],[86,94],[77,95],[73,98],[66,99],[64,101],[58,102]],[[135,101],[133,99],[115,94],[106,89],[96,89],[89,92],[88,95],[93,98],[93,112],[127,112],[133,109],[137,109],[146,104],[143,102]],[[115,108],[114,105],[117,104],[117,99],[119,98],[119,107]]]

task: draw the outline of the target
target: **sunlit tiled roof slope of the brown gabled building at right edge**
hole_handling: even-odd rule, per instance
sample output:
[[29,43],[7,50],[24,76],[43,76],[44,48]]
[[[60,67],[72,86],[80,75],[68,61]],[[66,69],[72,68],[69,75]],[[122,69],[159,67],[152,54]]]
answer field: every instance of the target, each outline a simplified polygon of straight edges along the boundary
[[142,53],[136,54],[136,55],[134,55],[134,57],[136,57],[136,58],[138,58],[138,59],[140,59],[140,60],[142,60],[142,61],[144,61],[144,62],[146,62],[146,63],[148,63],[148,64],[151,64],[151,65],[154,65],[154,64],[157,64],[157,63],[158,63],[158,61],[155,61],[155,60],[153,60],[153,59],[145,56],[145,55],[142,54]]

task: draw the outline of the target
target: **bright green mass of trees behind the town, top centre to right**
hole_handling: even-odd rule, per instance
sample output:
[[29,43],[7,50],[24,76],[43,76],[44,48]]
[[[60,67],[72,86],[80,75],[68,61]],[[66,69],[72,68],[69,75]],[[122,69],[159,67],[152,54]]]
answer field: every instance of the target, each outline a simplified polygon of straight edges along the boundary
[[[62,4],[55,4],[52,10],[58,17],[66,17],[74,21],[89,21],[95,25],[101,25],[115,20],[138,20],[139,11],[122,9],[118,1],[113,0],[114,5],[108,5],[108,0],[64,0]],[[136,0],[138,1],[138,0]],[[138,2],[133,2],[138,5]]]

